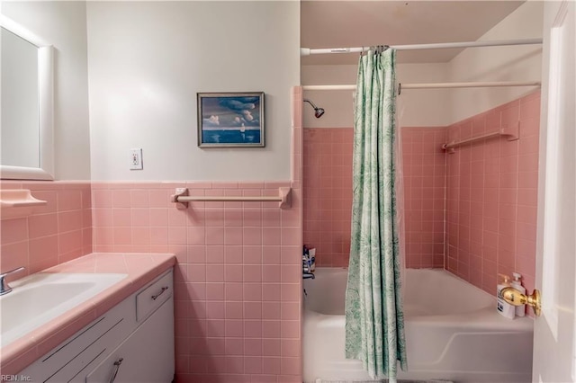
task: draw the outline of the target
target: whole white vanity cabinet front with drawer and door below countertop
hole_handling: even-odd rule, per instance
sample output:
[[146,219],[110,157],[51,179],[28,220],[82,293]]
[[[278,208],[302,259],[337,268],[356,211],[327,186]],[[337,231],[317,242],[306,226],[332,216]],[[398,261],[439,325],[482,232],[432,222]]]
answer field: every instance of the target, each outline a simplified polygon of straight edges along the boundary
[[20,372],[39,382],[174,379],[173,272],[157,277]]

